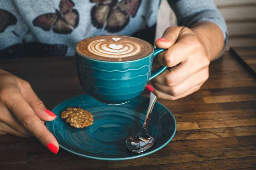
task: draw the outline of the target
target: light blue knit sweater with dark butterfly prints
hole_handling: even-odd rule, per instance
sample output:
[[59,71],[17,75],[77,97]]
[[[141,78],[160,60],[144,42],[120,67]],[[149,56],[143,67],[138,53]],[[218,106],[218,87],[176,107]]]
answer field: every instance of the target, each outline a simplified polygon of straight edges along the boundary
[[[168,0],[179,26],[210,21],[227,38],[213,0]],[[80,40],[130,35],[154,43],[160,0],[0,1],[0,59],[74,55]]]

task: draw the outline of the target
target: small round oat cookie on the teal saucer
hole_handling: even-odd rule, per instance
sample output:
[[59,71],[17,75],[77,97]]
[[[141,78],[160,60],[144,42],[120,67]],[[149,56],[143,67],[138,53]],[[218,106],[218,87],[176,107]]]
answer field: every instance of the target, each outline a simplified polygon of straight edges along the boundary
[[74,128],[84,128],[93,124],[93,115],[81,107],[68,107],[60,114]]

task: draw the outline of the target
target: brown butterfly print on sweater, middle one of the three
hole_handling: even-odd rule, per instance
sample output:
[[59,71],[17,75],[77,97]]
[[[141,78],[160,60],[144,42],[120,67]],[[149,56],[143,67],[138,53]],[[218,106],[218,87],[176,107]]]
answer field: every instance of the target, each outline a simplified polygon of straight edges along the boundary
[[70,34],[78,25],[79,13],[73,9],[72,0],[60,0],[60,11],[55,9],[55,13],[47,13],[38,16],[33,20],[33,25],[58,34]]

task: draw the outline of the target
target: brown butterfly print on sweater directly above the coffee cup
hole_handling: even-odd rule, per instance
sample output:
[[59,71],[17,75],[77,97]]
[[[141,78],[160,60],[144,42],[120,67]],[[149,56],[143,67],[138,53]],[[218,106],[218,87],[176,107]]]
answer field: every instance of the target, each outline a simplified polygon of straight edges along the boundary
[[130,17],[135,17],[141,0],[90,0],[96,3],[91,8],[91,22],[93,26],[114,33],[124,29]]

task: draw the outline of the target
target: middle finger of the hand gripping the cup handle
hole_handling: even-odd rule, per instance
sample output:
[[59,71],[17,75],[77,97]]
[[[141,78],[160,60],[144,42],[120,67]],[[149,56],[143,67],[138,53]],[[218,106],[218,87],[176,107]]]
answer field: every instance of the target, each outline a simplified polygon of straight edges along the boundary
[[189,61],[190,59],[188,59],[185,62],[164,71],[162,74],[154,78],[152,82],[170,87],[177,86],[187,80],[193,74],[206,69],[210,64],[207,57],[201,57],[198,58],[198,60],[196,60],[197,56],[193,58],[197,62]]

